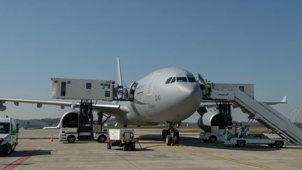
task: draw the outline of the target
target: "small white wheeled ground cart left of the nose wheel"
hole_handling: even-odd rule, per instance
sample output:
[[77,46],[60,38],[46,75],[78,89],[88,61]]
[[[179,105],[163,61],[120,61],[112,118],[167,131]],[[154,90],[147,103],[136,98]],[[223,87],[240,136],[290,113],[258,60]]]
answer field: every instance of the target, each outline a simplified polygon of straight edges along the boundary
[[107,149],[112,146],[122,147],[124,151],[135,151],[135,143],[138,139],[134,138],[134,129],[109,129]]

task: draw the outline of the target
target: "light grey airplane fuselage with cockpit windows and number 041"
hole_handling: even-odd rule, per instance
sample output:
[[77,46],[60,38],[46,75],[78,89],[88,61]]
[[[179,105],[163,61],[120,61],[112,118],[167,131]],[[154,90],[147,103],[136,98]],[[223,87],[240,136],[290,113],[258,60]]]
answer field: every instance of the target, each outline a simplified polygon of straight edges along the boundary
[[201,103],[201,89],[192,73],[164,68],[136,81],[134,101],[115,101],[129,109],[117,122],[125,125],[154,125],[189,118]]

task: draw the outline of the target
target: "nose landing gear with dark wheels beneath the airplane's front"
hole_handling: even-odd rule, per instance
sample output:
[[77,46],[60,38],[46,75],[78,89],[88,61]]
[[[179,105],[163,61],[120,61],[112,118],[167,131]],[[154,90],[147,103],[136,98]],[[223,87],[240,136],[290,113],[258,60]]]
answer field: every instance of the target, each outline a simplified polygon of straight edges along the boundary
[[162,137],[166,139],[167,146],[179,144],[179,131],[175,128],[180,126],[180,122],[168,122],[168,129],[163,129]]

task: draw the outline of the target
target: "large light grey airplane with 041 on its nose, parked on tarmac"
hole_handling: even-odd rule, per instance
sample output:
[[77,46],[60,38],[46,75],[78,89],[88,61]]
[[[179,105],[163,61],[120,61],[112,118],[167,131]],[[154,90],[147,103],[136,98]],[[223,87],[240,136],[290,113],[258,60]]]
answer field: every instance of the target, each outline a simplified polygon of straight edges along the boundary
[[[122,85],[120,59],[117,58],[117,84]],[[166,144],[179,143],[176,127],[189,118],[201,104],[201,87],[193,74],[175,67],[159,69],[129,86],[131,101],[112,101],[111,104],[96,104],[94,111],[115,116],[124,125],[157,125],[166,123],[168,129],[162,131]],[[132,95],[132,96],[131,96]],[[16,106],[22,103],[57,105],[64,108],[78,107],[79,104],[65,101],[42,101],[29,99],[0,99],[0,111],[5,111],[6,101]]]

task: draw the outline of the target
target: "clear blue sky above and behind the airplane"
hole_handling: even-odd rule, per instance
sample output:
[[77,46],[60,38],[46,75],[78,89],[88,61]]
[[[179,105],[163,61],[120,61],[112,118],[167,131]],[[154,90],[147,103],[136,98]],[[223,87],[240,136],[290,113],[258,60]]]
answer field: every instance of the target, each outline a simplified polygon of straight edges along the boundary
[[[259,101],[287,95],[275,108],[289,115],[302,107],[301,9],[275,0],[1,1],[0,97],[50,100],[51,77],[115,80],[120,56],[124,83],[177,66],[215,83],[254,83]],[[22,119],[64,113],[6,106],[0,115]]]

